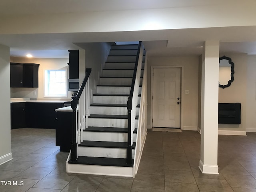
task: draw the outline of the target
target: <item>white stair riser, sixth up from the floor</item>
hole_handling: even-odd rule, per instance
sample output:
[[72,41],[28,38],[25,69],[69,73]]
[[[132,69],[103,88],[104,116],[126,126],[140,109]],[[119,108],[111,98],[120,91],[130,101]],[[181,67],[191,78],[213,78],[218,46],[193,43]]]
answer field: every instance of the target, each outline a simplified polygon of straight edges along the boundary
[[[110,104],[127,104],[128,96],[93,96],[94,103],[110,103]],[[138,104],[140,104],[140,97],[138,97]]]

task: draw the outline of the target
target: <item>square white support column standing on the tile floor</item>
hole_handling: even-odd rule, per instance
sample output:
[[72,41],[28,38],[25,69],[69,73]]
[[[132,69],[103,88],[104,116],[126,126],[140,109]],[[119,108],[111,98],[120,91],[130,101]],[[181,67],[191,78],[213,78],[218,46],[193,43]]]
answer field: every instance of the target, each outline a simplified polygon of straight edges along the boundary
[[205,174],[218,173],[218,41],[206,41],[202,55],[201,159],[199,169]]

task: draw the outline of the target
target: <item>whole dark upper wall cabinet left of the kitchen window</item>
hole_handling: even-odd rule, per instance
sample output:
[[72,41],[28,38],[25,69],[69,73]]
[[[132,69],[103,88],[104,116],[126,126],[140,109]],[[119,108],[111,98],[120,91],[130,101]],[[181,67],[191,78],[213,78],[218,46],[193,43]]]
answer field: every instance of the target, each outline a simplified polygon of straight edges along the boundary
[[11,87],[38,87],[38,67],[34,63],[10,63]]

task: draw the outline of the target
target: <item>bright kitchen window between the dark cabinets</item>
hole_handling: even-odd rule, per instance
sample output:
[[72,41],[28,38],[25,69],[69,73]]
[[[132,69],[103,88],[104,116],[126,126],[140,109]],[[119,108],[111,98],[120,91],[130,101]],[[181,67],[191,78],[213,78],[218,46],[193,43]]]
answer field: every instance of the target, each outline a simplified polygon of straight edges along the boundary
[[44,71],[44,96],[67,97],[66,70]]

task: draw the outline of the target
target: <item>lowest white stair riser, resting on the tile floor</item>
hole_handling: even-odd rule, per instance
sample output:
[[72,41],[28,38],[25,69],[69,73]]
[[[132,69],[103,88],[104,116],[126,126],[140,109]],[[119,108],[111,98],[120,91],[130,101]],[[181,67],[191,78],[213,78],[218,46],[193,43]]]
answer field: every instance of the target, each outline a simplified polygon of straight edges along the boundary
[[82,165],[66,163],[67,173],[133,177],[132,167]]

